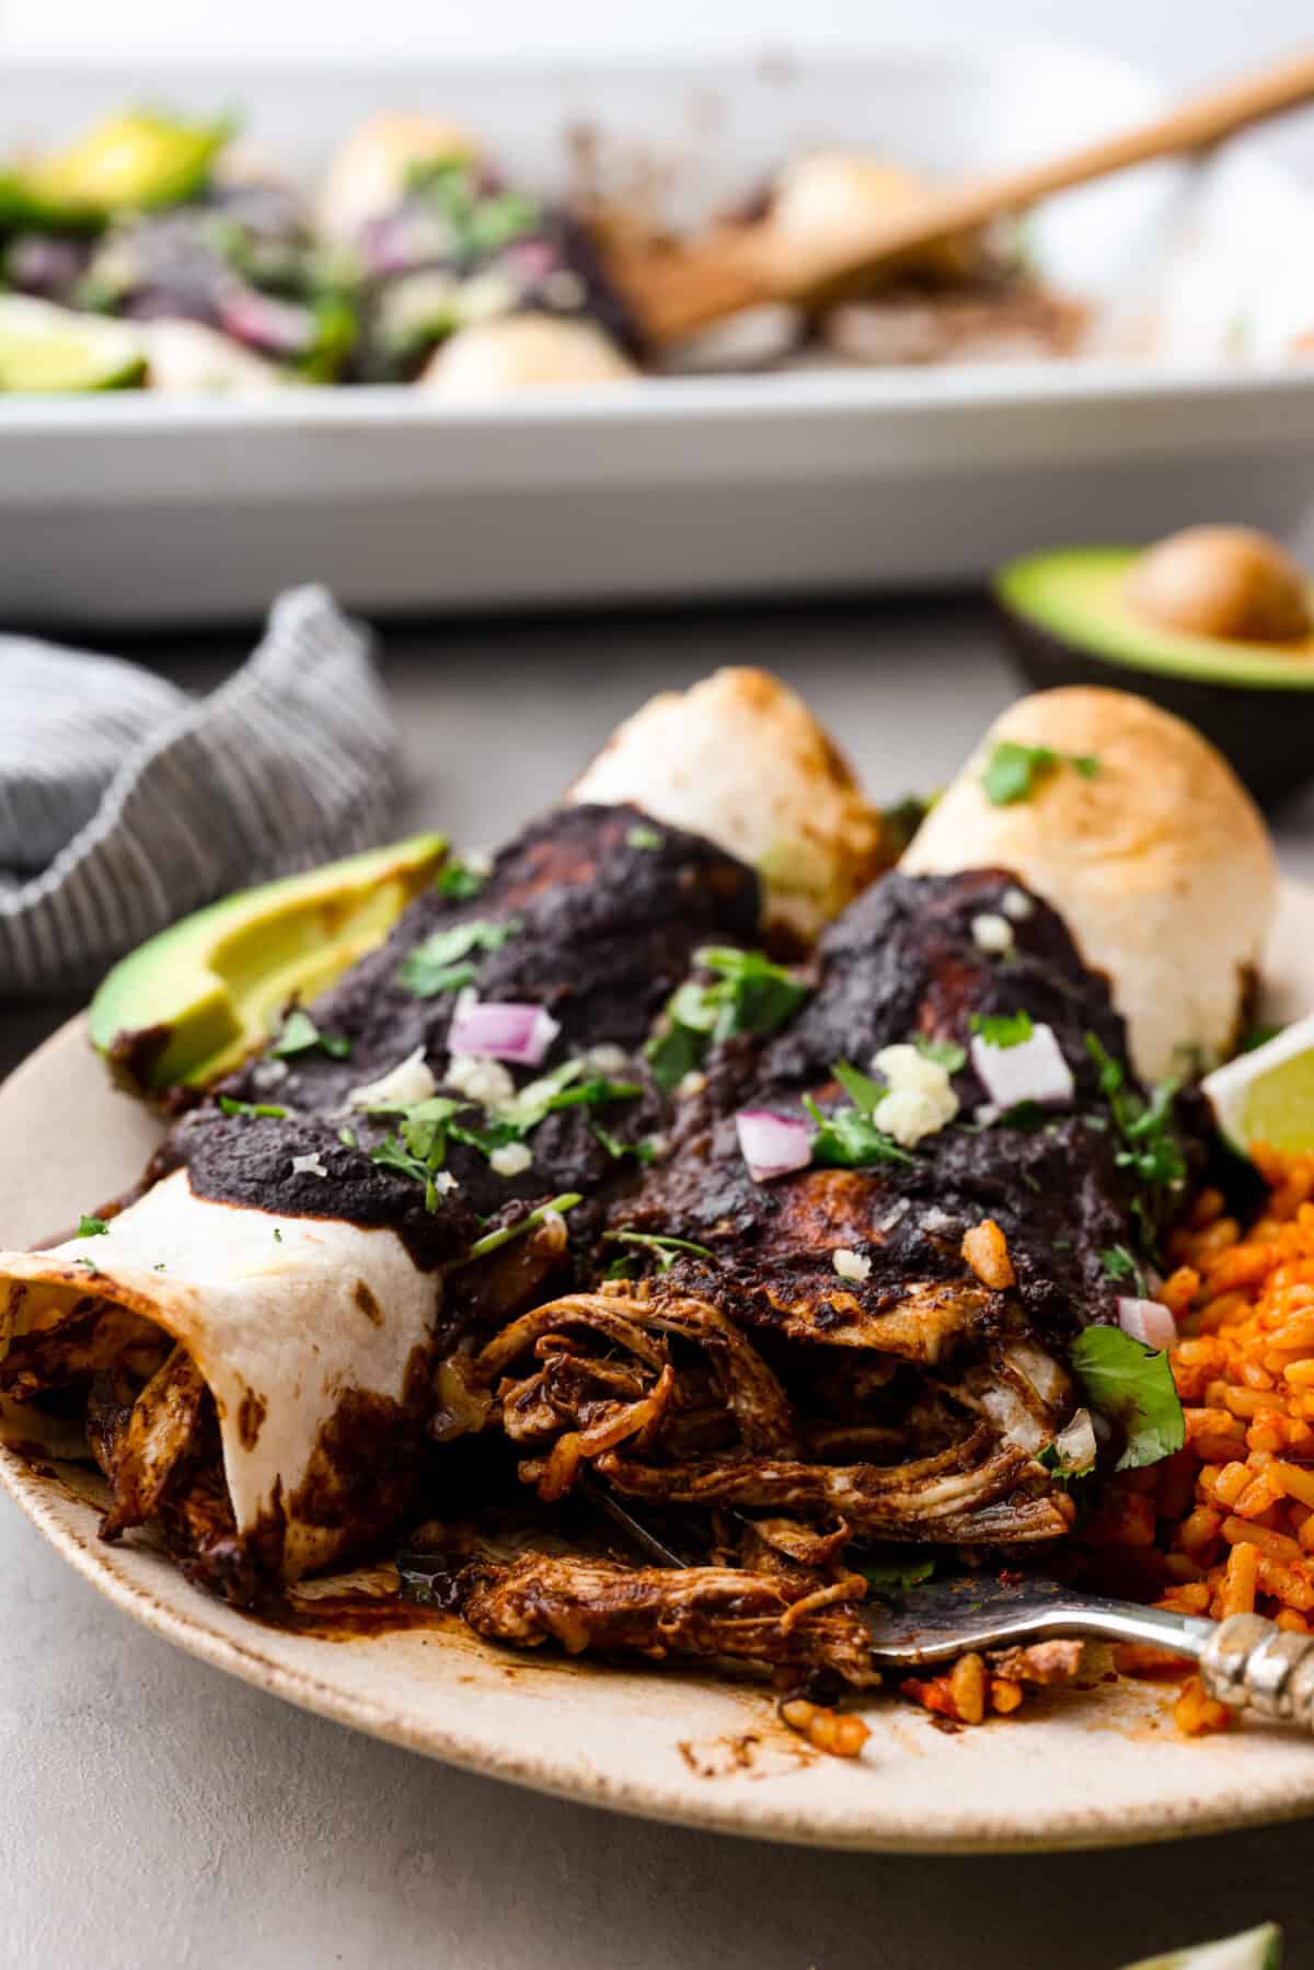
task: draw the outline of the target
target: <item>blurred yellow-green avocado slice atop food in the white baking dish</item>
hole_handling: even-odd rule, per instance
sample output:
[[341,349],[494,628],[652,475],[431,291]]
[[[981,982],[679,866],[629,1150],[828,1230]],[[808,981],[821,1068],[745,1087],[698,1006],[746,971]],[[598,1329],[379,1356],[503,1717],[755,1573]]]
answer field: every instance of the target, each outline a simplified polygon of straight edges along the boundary
[[165,110],[108,116],[53,158],[0,171],[0,225],[99,227],[114,213],[181,205],[205,185],[232,120]]

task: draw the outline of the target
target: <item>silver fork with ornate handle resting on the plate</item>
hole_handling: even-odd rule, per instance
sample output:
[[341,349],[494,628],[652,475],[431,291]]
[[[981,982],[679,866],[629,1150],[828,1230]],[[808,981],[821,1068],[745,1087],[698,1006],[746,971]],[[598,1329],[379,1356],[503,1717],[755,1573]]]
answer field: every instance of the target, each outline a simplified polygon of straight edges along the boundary
[[[589,1479],[587,1489],[660,1566],[690,1564],[601,1485]],[[873,1590],[857,1613],[871,1629],[877,1669],[918,1669],[950,1663],[969,1649],[1058,1637],[1139,1641],[1196,1663],[1206,1692],[1229,1710],[1314,1730],[1314,1635],[1290,1635],[1261,1613],[1206,1621],[1078,1594],[1044,1574],[955,1574],[898,1592]]]

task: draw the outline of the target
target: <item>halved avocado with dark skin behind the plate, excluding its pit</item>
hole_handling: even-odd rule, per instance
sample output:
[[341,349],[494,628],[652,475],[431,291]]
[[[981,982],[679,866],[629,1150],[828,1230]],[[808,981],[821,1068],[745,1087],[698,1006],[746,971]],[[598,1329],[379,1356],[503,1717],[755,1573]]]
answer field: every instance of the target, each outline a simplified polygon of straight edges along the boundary
[[[1036,690],[1105,684],[1196,725],[1255,798],[1281,800],[1314,772],[1314,636],[1251,642],[1168,628],[1127,601],[1139,548],[1056,548],[1009,561],[995,601]],[[1310,589],[1314,609],[1314,587]]]

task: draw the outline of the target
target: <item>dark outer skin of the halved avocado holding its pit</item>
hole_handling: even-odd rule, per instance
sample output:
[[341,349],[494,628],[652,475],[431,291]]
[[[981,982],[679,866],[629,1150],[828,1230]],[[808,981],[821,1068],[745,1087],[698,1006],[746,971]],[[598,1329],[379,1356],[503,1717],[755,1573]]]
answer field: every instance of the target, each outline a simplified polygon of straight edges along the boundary
[[1062,684],[1103,686],[1149,697],[1186,719],[1231,760],[1261,808],[1273,808],[1314,774],[1314,699],[1300,691],[1202,684],[1097,656],[993,601],[995,621],[1026,684],[1050,691]]

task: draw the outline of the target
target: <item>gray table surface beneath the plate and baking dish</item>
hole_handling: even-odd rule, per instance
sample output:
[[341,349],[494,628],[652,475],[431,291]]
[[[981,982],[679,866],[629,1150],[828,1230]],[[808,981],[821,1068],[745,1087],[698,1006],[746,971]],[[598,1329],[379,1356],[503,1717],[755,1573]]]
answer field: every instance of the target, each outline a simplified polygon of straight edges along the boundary
[[[132,654],[205,690],[240,648]],[[496,841],[648,691],[717,664],[806,691],[881,798],[944,780],[1013,695],[973,601],[398,626],[402,820]],[[1314,879],[1314,800],[1277,833],[1288,873]],[[0,1005],[0,1070],[63,1011]],[[1288,1962],[1314,1962],[1314,1824],[1007,1860],[688,1834],[447,1771],[232,1682],[100,1602],[4,1501],[0,1582],[6,1966],[1115,1970],[1269,1915]]]

